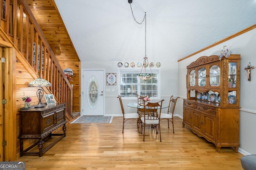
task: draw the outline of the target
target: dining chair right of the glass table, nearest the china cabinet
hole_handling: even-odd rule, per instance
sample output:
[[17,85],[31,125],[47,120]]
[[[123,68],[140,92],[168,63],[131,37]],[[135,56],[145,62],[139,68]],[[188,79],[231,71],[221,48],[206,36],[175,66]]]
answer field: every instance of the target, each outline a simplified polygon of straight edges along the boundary
[[168,121],[168,128],[170,128],[169,127],[169,121],[172,122],[173,133],[174,133],[173,113],[174,113],[174,109],[175,109],[176,102],[177,102],[178,98],[180,98],[180,97],[174,98],[173,96],[171,96],[170,97],[170,102],[169,102],[169,107],[168,107],[168,112],[167,113],[162,113],[161,116],[160,116],[160,121],[164,120],[164,119]]

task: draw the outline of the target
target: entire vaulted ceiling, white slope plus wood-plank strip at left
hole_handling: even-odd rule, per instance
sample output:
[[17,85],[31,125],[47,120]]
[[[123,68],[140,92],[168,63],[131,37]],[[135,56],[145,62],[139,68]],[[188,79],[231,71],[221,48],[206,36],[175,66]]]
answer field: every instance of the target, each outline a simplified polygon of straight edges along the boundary
[[[256,24],[256,0],[26,0],[61,61],[177,61]],[[60,14],[60,15],[59,15]],[[61,16],[61,17],[60,17]],[[222,47],[216,48],[216,51]]]

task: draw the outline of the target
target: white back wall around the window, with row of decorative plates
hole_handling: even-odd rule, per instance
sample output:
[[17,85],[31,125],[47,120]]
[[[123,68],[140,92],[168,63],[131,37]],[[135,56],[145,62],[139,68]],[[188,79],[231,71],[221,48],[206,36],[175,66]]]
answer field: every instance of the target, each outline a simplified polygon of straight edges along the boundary
[[[118,66],[117,64],[119,62],[121,63],[138,63],[143,62],[143,58],[139,61],[113,61],[113,62],[81,62],[81,70],[82,69],[94,69],[94,68],[104,68],[106,70],[106,73],[117,73],[117,79],[119,78],[118,75]],[[168,104],[170,100],[170,96],[178,96],[178,62],[177,61],[151,61],[148,59],[149,62],[160,62],[160,77],[161,77],[161,95],[160,98],[164,99],[164,102]],[[156,66],[153,67],[156,69]],[[122,69],[125,69],[123,66]],[[140,70],[141,68],[138,68],[135,66],[134,68],[131,68],[130,66],[127,68],[130,70]],[[105,80],[106,81],[106,80]],[[118,81],[117,81],[118,82]],[[117,85],[106,85],[105,89],[110,89],[110,92],[106,92],[105,90],[105,115],[122,115],[121,107],[119,100],[117,98],[118,95],[118,83]],[[114,89],[114,92],[112,92],[112,89]],[[82,93],[81,93],[82,94]],[[125,113],[136,113],[136,109],[132,109],[128,106],[126,106],[129,102],[136,102],[137,100],[124,100],[122,99],[123,105],[124,105],[124,111]],[[81,102],[82,103],[82,102]],[[167,110],[167,109],[166,109]],[[165,111],[165,110],[164,110]],[[175,112],[178,114],[178,108],[175,109]]]

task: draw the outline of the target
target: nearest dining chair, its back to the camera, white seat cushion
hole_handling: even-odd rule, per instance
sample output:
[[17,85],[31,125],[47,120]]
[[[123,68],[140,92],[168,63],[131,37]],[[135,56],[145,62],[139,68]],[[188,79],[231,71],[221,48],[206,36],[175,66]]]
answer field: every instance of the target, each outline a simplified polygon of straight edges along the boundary
[[[160,135],[160,142],[162,142],[161,139],[161,128],[160,128],[160,119],[161,111],[162,111],[162,103],[164,100],[161,100],[159,102],[148,102],[143,101],[143,114],[140,114],[140,123],[143,127],[143,142],[145,141],[145,127],[151,126],[151,128],[156,129],[156,134],[159,133]],[[159,110],[159,111],[158,111]]]

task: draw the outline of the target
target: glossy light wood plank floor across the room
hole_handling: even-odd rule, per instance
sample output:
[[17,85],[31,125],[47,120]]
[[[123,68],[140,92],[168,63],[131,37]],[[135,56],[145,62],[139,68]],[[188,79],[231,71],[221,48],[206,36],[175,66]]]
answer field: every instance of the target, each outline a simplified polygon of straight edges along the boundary
[[242,154],[229,147],[216,152],[212,143],[182,128],[179,117],[174,129],[175,134],[162,121],[162,142],[151,127],[143,142],[136,121],[127,121],[122,134],[122,117],[108,124],[69,124],[66,138],[42,158],[22,156],[16,161],[26,161],[26,170],[242,170]]

